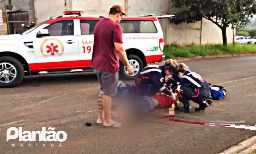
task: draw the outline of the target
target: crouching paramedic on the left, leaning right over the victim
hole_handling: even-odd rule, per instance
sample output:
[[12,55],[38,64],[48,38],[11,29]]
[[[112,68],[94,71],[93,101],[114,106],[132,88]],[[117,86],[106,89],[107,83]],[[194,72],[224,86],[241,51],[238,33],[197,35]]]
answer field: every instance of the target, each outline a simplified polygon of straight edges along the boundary
[[[149,65],[140,70],[135,76],[136,92],[141,96],[154,96],[159,90],[166,95],[171,95],[172,92],[164,86],[165,75],[170,75],[177,72],[173,66]],[[167,73],[167,74],[166,74]]]

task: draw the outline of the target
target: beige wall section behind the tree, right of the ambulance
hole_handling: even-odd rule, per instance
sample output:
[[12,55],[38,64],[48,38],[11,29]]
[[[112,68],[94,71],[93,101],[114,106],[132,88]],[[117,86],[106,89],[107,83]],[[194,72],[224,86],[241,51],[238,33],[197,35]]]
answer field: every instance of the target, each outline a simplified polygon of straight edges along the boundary
[[[172,3],[170,2],[170,14],[175,14],[178,11],[185,10],[186,8],[176,9],[172,7]],[[202,24],[202,31],[201,31]],[[222,32],[221,29],[212,23],[211,21],[203,18],[202,21],[198,21],[196,23],[181,23],[178,25],[169,24],[169,32],[168,41],[166,44],[222,44]],[[235,32],[235,31],[234,31]],[[233,42],[233,31],[231,27],[227,28],[227,42]],[[201,38],[201,43],[200,43]]]

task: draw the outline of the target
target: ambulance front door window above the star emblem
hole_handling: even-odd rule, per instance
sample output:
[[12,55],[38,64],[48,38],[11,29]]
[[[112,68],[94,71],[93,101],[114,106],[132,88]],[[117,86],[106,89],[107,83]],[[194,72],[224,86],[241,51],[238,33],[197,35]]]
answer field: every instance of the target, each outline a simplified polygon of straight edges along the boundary
[[58,21],[45,29],[48,29],[50,36],[74,35],[74,22],[73,20]]

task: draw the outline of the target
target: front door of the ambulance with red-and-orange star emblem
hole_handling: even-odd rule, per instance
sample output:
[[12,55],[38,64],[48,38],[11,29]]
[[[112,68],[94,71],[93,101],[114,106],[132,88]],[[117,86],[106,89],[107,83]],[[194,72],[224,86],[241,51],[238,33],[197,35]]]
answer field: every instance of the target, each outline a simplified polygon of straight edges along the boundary
[[[34,39],[36,65],[39,70],[79,67],[78,36],[74,35],[74,20],[62,20],[45,27],[49,36]],[[47,31],[46,30],[46,31]]]

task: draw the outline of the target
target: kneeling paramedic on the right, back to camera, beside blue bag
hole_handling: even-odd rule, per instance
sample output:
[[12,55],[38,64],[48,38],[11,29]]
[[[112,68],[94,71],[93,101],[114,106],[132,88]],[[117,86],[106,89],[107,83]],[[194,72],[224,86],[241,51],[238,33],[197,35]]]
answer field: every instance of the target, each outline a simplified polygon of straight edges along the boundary
[[204,101],[210,96],[207,82],[199,74],[190,72],[182,66],[179,66],[178,74],[180,76],[180,83],[177,86],[176,92],[184,108],[190,107],[188,100],[198,103],[200,109],[209,106]]

